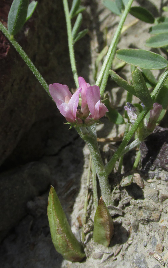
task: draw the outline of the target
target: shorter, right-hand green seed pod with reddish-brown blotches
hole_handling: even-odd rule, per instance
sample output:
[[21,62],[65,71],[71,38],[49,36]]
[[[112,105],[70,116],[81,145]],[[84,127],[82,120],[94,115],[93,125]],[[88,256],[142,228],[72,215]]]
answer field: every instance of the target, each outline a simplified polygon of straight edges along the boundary
[[93,240],[106,247],[110,245],[114,233],[112,217],[104,203],[102,196],[98,202],[94,218]]

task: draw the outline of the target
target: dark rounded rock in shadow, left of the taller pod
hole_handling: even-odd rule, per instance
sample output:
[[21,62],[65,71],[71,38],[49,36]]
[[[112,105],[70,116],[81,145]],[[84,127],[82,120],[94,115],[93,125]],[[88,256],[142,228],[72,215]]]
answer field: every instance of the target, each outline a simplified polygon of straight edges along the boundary
[[26,214],[27,201],[50,184],[50,169],[32,162],[0,175],[0,240]]

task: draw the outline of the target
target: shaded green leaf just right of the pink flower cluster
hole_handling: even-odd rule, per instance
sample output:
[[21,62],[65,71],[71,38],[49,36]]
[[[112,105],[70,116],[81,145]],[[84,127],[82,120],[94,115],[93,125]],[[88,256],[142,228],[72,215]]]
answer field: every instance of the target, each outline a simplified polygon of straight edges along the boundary
[[104,99],[103,103],[109,110],[108,112],[106,112],[106,116],[108,117],[110,122],[117,125],[124,124],[124,118],[120,113],[118,113],[118,111],[115,108],[111,107],[109,99]]

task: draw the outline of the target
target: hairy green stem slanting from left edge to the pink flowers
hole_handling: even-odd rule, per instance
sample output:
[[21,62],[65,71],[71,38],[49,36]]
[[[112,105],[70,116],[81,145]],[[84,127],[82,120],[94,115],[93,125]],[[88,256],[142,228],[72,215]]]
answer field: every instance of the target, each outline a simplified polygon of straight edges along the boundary
[[[40,82],[40,84],[43,86],[43,88],[47,91],[47,93],[50,96],[48,85],[44,78],[41,76],[37,68],[34,66],[32,61],[29,59],[27,54],[24,52],[24,50],[21,48],[19,43],[14,39],[13,35],[10,35],[6,27],[1,23],[0,21],[0,30],[3,32],[3,34],[7,37],[7,39],[10,41],[10,43],[14,46],[16,51],[19,53],[19,55],[22,57],[24,62],[27,64],[27,66],[30,68],[30,70],[33,72],[33,74],[36,76],[37,80]],[[51,97],[51,96],[50,96]]]

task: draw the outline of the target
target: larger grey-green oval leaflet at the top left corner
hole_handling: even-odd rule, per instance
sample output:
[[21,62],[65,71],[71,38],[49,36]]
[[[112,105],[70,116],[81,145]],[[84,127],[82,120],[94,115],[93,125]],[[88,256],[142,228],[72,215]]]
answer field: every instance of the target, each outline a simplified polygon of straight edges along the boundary
[[10,35],[16,35],[26,22],[29,0],[13,0],[7,20]]

